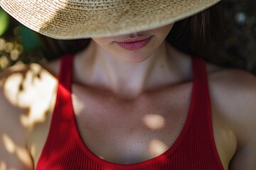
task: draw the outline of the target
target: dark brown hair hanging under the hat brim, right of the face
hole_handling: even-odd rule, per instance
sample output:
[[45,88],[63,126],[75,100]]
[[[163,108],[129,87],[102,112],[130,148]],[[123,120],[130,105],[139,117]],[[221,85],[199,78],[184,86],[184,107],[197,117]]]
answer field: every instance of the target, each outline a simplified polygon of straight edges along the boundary
[[206,59],[213,57],[215,42],[224,33],[223,21],[220,14],[222,3],[206,9],[174,24],[167,40],[174,47]]

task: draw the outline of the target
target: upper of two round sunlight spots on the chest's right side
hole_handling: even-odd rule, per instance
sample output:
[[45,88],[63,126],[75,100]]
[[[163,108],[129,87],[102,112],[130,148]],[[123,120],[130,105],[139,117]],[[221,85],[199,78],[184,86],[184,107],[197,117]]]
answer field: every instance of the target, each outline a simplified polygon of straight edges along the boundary
[[144,115],[143,121],[146,127],[151,130],[159,130],[161,128],[164,128],[164,125],[165,125],[164,117],[158,114]]

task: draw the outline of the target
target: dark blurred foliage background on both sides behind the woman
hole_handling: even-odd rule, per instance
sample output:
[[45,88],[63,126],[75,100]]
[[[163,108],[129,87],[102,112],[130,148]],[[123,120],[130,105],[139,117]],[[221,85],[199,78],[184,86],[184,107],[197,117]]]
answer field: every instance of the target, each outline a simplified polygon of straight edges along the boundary
[[[256,75],[256,0],[223,0],[225,33],[210,62]],[[38,62],[43,46],[36,33],[0,8],[0,72],[17,62]]]

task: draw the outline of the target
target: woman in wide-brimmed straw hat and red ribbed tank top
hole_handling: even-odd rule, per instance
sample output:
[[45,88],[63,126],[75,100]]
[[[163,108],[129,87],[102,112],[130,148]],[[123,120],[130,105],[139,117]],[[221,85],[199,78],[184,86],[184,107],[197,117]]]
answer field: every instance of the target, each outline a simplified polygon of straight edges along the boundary
[[1,75],[0,167],[256,169],[255,77],[165,41],[217,2],[1,0],[43,35],[91,40]]

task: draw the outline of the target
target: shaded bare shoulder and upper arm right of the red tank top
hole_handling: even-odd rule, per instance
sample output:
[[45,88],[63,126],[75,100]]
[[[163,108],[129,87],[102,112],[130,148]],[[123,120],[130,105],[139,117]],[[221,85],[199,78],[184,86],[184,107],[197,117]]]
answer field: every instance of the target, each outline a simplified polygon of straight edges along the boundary
[[237,139],[231,169],[256,168],[256,77],[240,69],[208,75],[213,111]]

